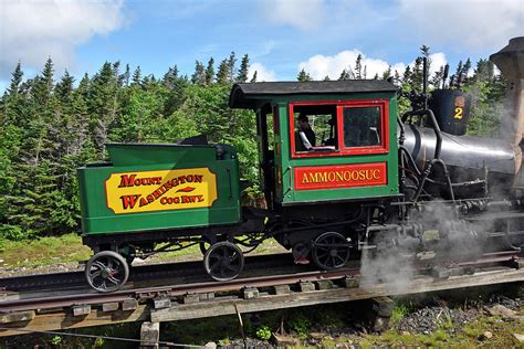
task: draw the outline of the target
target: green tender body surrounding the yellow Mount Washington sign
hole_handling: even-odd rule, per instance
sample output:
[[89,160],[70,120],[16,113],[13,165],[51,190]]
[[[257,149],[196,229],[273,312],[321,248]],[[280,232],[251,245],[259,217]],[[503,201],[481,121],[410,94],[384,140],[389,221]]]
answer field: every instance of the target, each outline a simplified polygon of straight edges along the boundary
[[[109,161],[77,169],[84,234],[105,234],[234,224],[241,221],[239,162],[233,147],[107,145]],[[207,168],[216,174],[218,199],[209,208],[115,214],[105,181],[112,173]]]

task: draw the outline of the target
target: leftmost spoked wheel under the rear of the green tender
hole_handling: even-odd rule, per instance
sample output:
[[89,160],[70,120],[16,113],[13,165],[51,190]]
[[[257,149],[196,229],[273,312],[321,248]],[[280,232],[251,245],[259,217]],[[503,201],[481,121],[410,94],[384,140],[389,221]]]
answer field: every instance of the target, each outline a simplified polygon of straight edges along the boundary
[[98,292],[115,292],[124,286],[128,277],[127,262],[113,251],[98,252],[85,265],[85,278]]

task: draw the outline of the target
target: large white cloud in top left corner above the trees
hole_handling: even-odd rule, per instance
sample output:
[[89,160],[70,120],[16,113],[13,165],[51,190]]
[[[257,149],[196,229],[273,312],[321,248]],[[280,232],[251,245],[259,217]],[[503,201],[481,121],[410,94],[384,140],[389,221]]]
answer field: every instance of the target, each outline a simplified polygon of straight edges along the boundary
[[124,24],[123,0],[3,0],[0,4],[0,78],[18,61],[40,71],[48,56],[56,70],[74,64],[75,47]]

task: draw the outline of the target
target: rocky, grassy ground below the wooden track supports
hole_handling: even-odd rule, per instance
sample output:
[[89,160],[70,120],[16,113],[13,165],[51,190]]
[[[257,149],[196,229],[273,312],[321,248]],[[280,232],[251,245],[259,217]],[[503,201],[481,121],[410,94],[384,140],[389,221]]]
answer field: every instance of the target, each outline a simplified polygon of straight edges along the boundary
[[[468,290],[395,299],[390,329],[373,334],[355,303],[244,315],[248,337],[238,319],[221,317],[163,324],[160,340],[206,345],[207,348],[523,348],[524,285],[504,289]],[[452,297],[450,297],[450,294]],[[285,315],[285,316],[284,316]],[[284,319],[285,318],[285,319]],[[282,320],[281,320],[282,319]],[[256,336],[265,326],[269,340]],[[139,324],[73,331],[95,336],[138,338]],[[277,334],[274,336],[274,334]],[[206,336],[206,337],[203,337]],[[60,345],[56,345],[60,343]],[[134,348],[133,343],[67,336],[12,337],[0,348]]]

